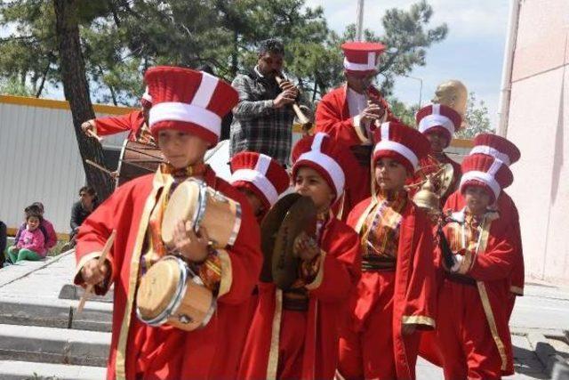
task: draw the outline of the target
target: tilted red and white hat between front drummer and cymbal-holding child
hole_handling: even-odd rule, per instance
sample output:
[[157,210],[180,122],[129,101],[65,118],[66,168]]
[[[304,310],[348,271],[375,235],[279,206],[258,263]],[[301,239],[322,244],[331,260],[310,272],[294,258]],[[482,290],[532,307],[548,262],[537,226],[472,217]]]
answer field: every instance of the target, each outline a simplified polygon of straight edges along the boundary
[[231,183],[252,191],[268,210],[288,189],[290,177],[275,159],[257,152],[239,152],[229,162]]

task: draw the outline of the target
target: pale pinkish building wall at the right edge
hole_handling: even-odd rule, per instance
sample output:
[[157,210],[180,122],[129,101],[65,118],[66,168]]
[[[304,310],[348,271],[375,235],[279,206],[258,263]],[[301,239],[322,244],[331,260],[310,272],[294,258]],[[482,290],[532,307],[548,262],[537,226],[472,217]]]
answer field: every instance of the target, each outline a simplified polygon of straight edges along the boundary
[[526,277],[569,283],[569,1],[520,2],[507,137],[522,152],[507,190]]

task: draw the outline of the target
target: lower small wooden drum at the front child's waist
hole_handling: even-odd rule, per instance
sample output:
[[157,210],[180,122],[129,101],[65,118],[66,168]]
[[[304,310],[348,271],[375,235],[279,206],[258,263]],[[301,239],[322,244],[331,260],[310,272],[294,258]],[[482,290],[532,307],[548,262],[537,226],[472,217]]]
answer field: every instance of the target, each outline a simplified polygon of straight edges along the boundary
[[192,331],[204,327],[216,310],[212,292],[176,256],[158,260],[140,279],[136,315],[150,326]]

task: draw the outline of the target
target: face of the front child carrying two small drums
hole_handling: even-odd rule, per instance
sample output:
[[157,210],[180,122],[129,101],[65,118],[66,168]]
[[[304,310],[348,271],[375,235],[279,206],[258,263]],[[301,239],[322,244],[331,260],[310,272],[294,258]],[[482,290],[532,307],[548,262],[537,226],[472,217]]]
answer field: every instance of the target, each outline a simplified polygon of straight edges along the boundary
[[176,169],[196,165],[204,159],[209,143],[195,134],[163,129],[158,132],[158,147]]

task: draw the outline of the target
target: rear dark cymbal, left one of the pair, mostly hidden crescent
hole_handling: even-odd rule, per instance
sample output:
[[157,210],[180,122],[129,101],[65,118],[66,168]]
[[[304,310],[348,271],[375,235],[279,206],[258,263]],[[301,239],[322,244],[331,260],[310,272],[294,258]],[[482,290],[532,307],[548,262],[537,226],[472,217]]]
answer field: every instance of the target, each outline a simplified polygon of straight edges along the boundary
[[273,281],[273,251],[275,250],[276,233],[283,224],[284,217],[294,202],[301,198],[301,194],[291,193],[278,199],[276,204],[270,207],[268,213],[260,222],[260,250],[263,253],[263,268],[260,271],[260,280],[263,282]]

